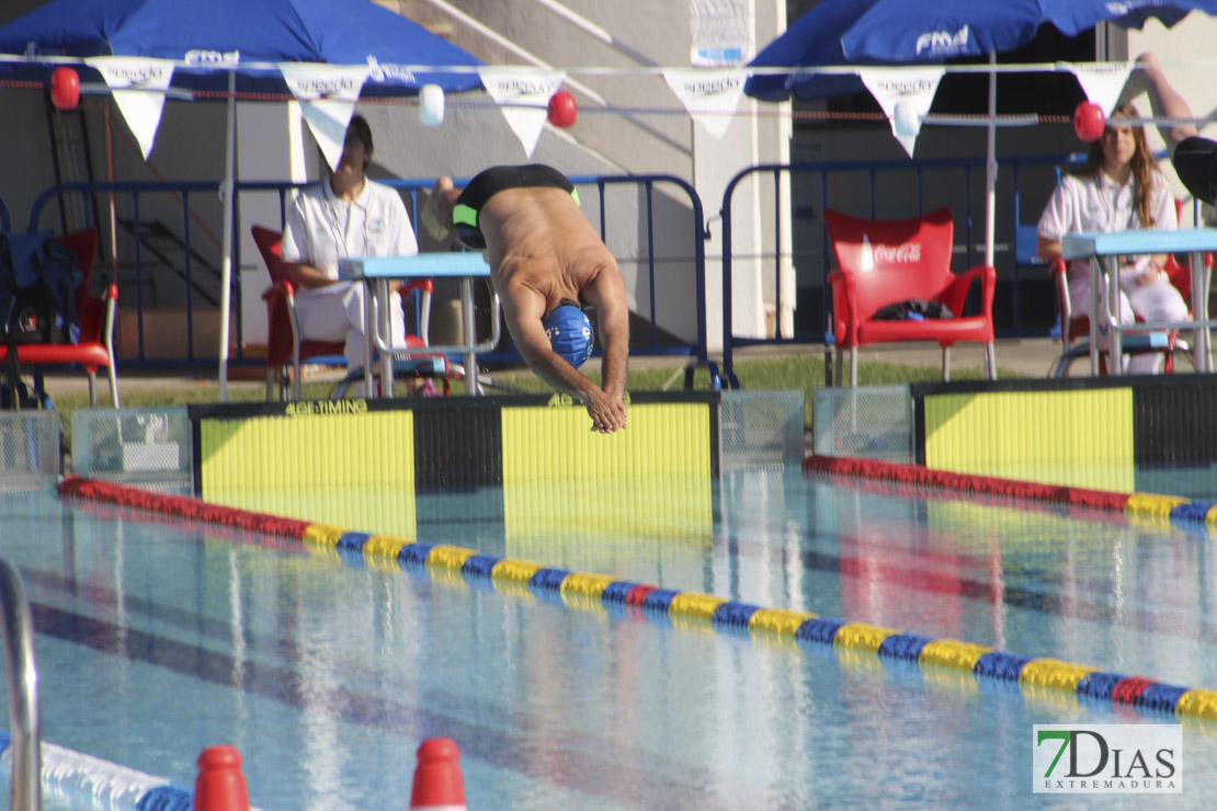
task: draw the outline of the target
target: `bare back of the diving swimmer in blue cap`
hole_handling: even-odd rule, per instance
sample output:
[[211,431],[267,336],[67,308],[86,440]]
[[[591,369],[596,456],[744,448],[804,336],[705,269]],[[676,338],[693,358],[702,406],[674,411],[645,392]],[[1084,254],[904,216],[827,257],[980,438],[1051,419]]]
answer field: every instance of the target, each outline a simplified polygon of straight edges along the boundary
[[578,299],[602,269],[616,269],[600,235],[561,188],[505,188],[482,205],[478,225],[495,287],[535,289],[546,311],[563,298]]

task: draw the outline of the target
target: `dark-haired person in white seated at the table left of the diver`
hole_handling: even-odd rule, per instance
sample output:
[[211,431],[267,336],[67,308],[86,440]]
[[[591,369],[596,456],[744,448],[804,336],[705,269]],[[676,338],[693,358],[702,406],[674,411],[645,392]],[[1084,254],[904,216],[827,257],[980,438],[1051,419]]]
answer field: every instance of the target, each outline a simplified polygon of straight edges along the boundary
[[[402,196],[366,176],[371,156],[371,128],[363,116],[353,116],[330,180],[296,196],[284,230],[282,257],[299,291],[301,332],[313,340],[344,340],[348,372],[365,362],[364,286],[340,282],[338,260],[419,253]],[[396,303],[394,297],[389,322],[393,343],[402,345],[405,323]]]

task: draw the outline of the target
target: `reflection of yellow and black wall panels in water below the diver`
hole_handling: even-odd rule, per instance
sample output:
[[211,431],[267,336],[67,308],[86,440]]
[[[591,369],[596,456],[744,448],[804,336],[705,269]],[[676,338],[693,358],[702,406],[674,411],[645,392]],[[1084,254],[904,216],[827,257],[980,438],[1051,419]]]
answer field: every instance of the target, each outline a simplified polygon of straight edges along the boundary
[[714,528],[714,484],[708,477],[419,495],[368,486],[213,490],[208,501],[229,507],[647,581],[672,567],[696,573],[700,581]]

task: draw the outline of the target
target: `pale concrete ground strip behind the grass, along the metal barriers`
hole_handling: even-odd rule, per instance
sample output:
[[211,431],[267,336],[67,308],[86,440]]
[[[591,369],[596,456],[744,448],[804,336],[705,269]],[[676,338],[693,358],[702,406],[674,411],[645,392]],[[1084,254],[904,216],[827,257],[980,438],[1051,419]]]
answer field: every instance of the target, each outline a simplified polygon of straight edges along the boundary
[[[813,353],[821,357],[824,347],[819,344],[807,344],[798,347],[748,347],[735,350],[735,361],[767,355],[789,355],[791,353]],[[997,342],[998,376],[1002,373],[1020,374],[1031,378],[1044,378],[1048,370],[1060,355],[1060,343],[1049,338],[1023,338],[1005,339]],[[720,356],[716,360],[722,360]],[[863,347],[858,351],[859,362],[882,361],[890,364],[902,364],[908,366],[941,367],[942,350],[932,343],[904,343],[884,344],[879,347]],[[630,366],[634,368],[682,368],[688,362],[686,357],[660,355],[630,357]],[[961,370],[980,371],[983,364],[983,351],[978,345],[959,345],[950,351],[950,368],[953,372]],[[848,373],[848,370],[846,370]],[[316,373],[314,373],[316,374]],[[320,372],[319,378],[341,378],[341,372]],[[937,379],[937,378],[927,378]],[[200,392],[201,401],[215,398],[217,372],[212,368],[192,370],[185,373],[173,371],[148,372],[148,371],[124,371],[122,364],[118,366],[119,394],[140,388],[196,388]],[[679,382],[678,382],[679,384]],[[262,368],[230,370],[229,390],[263,392],[265,382]],[[54,371],[46,374],[46,390],[54,399],[65,393],[88,392],[88,378],[78,371]],[[108,400],[108,383],[103,376],[99,376],[97,396],[102,405]]]

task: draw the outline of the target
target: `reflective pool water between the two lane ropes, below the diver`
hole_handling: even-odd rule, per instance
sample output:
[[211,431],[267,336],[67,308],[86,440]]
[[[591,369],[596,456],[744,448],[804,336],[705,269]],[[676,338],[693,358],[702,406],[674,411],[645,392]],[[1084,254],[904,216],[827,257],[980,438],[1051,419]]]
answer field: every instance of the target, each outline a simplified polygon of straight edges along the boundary
[[1173,683],[1208,685],[1217,661],[1184,653],[1215,638],[1199,524],[792,471],[234,501]]

